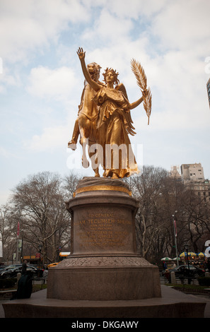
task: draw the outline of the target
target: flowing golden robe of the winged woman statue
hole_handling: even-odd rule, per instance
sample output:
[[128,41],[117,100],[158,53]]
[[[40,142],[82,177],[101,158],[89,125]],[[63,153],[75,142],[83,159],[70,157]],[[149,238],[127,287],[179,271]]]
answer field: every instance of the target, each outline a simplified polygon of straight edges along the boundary
[[105,177],[129,177],[139,173],[128,134],[133,134],[129,101],[120,90],[101,88],[93,97],[99,106],[98,143],[103,147],[100,164]]

